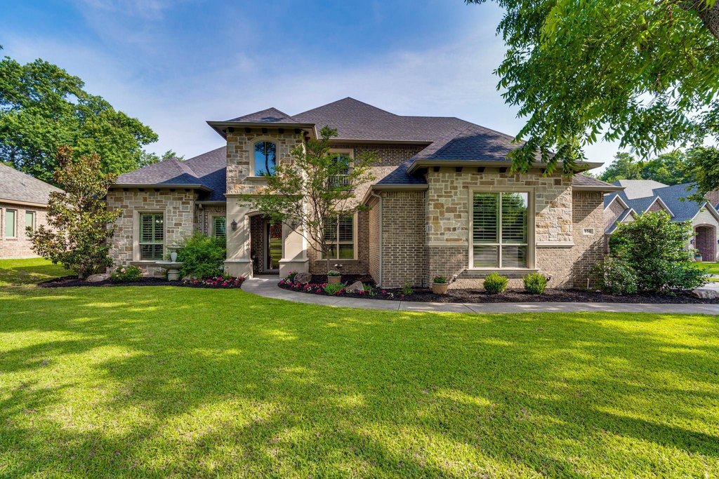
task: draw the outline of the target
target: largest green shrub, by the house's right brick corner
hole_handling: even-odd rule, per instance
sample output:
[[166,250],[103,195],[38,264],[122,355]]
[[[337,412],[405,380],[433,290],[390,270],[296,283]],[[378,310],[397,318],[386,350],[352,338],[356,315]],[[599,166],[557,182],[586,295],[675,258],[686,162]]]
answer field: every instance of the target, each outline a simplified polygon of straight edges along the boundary
[[[684,248],[692,234],[689,221],[673,222],[664,211],[644,213],[631,223],[618,225],[610,238],[611,256],[634,271],[638,292],[692,289],[704,281],[690,263],[694,250]],[[616,290],[618,285],[610,289]]]

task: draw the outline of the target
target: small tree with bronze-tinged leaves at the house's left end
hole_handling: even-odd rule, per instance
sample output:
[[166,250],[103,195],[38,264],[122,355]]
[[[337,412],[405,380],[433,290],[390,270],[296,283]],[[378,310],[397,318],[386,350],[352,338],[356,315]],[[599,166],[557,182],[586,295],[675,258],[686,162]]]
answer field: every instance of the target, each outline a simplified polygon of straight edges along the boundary
[[60,147],[53,177],[65,191],[50,193],[50,228],[27,229],[35,253],[63,264],[81,279],[112,266],[108,240],[114,233],[111,224],[121,213],[106,207],[104,197],[116,175],[101,175],[100,164],[97,154],[73,159],[72,148]]

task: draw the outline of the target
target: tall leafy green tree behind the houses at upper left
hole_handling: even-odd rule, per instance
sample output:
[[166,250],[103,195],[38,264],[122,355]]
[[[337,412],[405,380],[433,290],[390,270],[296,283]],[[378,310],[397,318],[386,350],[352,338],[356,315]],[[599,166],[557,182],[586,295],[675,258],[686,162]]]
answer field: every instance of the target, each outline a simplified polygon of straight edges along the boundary
[[0,161],[52,182],[58,147],[66,145],[76,157],[98,154],[103,172],[137,169],[142,146],[157,135],[83,87],[45,60],[0,60]]

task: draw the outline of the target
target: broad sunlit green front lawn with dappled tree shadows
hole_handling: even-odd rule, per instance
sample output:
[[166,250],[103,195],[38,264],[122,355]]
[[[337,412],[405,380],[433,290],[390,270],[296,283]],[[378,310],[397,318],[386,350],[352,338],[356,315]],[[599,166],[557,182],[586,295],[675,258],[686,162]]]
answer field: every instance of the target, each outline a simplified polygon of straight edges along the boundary
[[719,323],[0,292],[0,476],[716,477]]

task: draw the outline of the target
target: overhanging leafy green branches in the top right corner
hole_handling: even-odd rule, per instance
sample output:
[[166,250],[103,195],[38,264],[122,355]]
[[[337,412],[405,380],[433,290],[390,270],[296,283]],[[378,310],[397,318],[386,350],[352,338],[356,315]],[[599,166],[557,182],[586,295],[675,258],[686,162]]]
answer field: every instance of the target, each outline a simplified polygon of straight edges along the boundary
[[643,158],[719,139],[716,0],[496,1],[498,88],[527,118],[514,167],[569,172],[602,135]]

